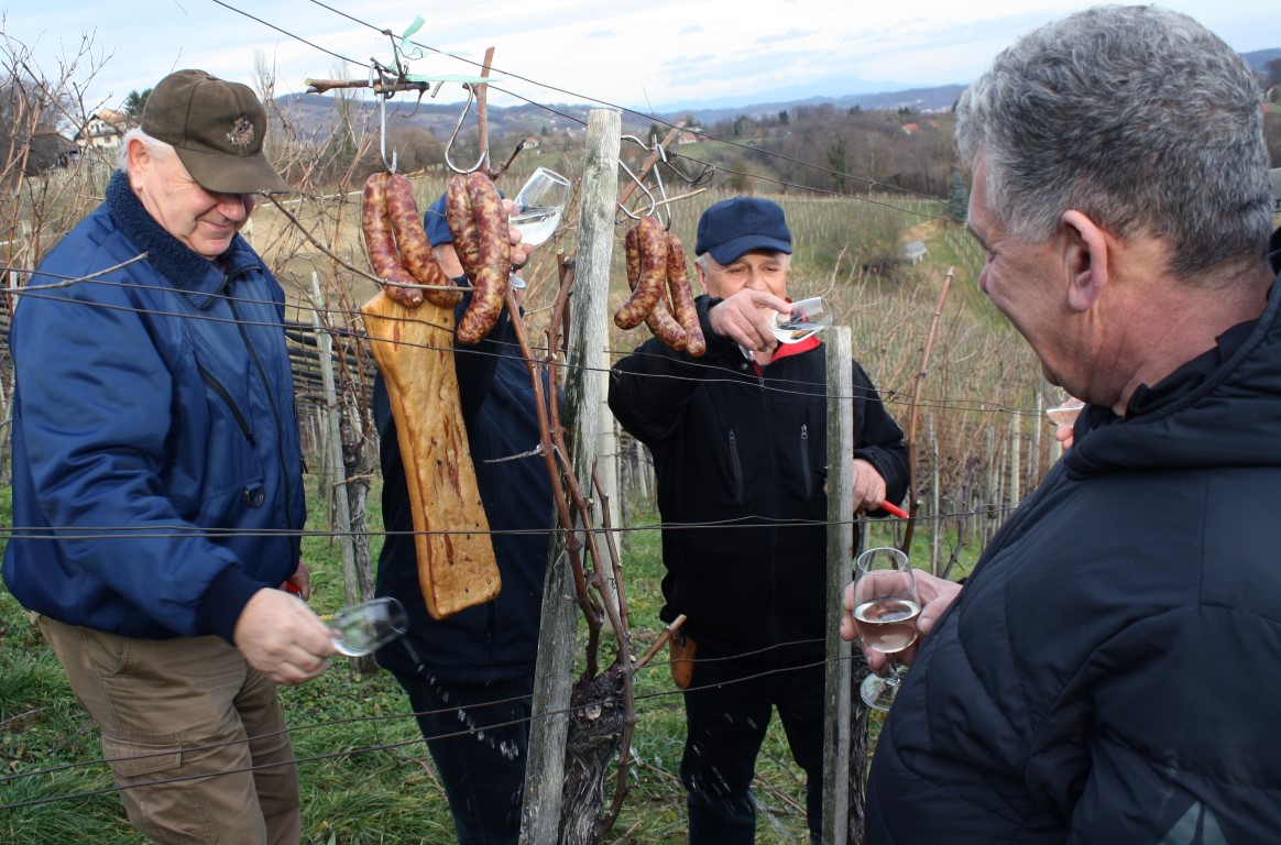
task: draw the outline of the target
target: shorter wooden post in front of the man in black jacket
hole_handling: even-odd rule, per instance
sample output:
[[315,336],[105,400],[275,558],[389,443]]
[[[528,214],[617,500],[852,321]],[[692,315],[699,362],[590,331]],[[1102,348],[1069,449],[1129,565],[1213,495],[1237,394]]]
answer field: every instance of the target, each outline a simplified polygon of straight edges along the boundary
[[[852,795],[851,728],[852,671],[851,644],[840,639],[842,594],[849,583],[849,562],[854,553],[854,387],[851,371],[849,328],[833,326],[828,351],[828,671],[824,680],[824,757],[822,757],[822,841],[847,841],[851,803],[862,805],[862,795]],[[860,790],[861,793],[861,790]],[[862,817],[862,813],[858,813]],[[858,841],[858,840],[848,840]]]

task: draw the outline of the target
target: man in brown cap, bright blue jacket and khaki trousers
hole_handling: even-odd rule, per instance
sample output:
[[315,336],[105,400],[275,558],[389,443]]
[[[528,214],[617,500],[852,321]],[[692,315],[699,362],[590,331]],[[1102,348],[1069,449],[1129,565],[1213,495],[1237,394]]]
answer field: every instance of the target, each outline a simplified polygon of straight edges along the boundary
[[300,841],[277,684],[334,653],[279,589],[310,590],[284,296],[237,234],[255,193],[290,189],[265,133],[249,87],[165,77],[10,330],[4,580],[158,842]]

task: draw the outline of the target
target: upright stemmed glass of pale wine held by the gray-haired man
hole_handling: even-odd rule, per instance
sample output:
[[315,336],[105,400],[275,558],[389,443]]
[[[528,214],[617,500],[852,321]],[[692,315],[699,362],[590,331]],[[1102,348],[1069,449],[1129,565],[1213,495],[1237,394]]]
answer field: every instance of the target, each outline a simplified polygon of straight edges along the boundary
[[[863,645],[898,654],[916,641],[921,599],[907,554],[894,547],[867,549],[854,562],[854,621]],[[858,688],[867,707],[888,711],[898,695],[903,670],[893,659],[889,675],[869,675]]]

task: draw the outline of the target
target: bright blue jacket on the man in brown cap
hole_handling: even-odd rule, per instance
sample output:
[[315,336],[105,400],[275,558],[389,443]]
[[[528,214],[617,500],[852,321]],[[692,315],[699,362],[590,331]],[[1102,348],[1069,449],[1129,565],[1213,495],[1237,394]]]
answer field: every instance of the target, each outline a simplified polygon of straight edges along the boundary
[[31,278],[9,337],[4,557],[24,607],[126,636],[231,641],[249,598],[297,567],[284,296],[240,237],[220,265],[161,229],[117,173]]

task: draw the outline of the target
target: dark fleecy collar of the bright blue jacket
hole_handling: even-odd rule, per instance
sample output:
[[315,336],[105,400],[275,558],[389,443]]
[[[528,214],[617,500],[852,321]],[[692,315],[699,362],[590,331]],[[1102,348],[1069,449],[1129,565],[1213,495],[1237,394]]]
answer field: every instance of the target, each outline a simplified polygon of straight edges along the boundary
[[215,262],[178,241],[155,221],[133,195],[123,170],[117,170],[106,186],[106,209],[120,232],[147,254],[152,269],[186,293],[197,309],[206,307],[237,273],[263,266],[254,250],[237,234],[222,255],[227,270],[220,270]]

